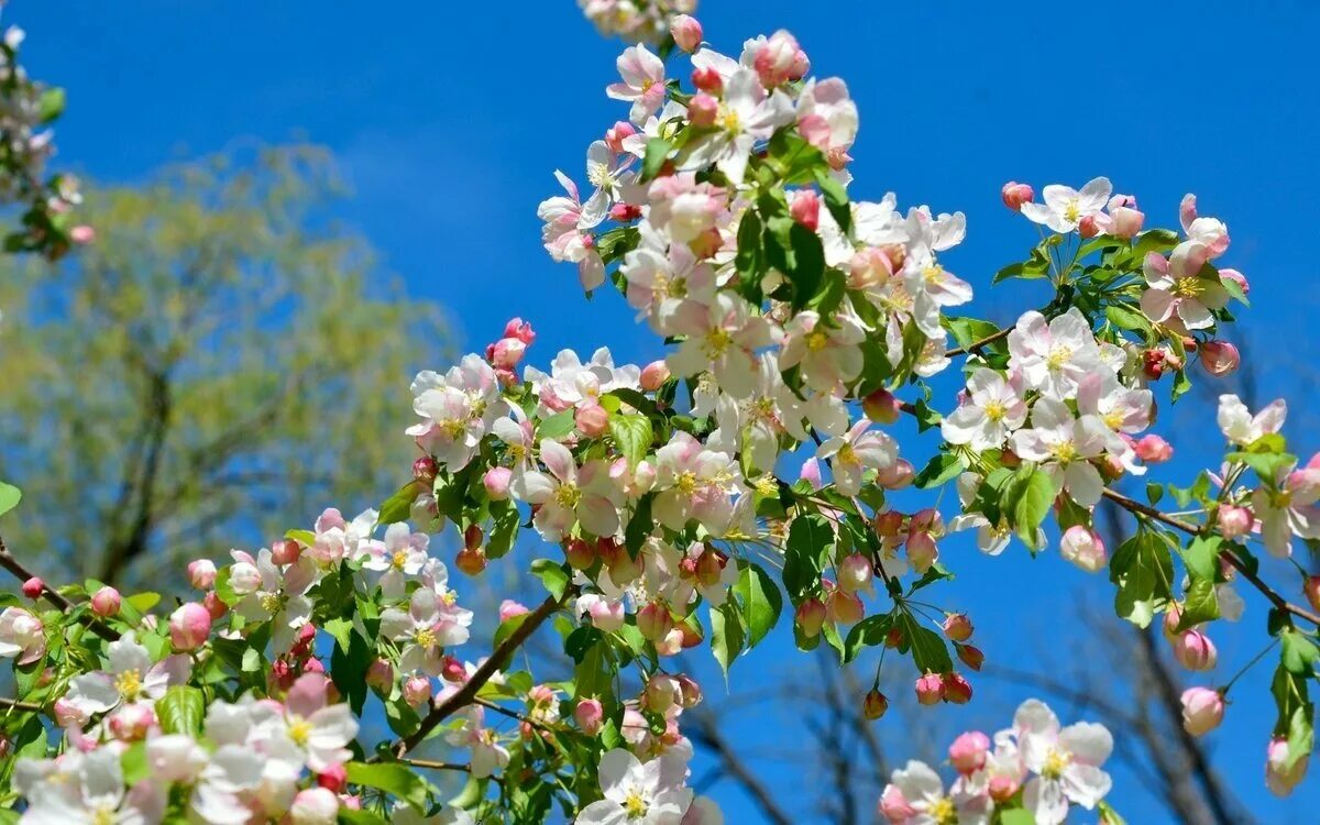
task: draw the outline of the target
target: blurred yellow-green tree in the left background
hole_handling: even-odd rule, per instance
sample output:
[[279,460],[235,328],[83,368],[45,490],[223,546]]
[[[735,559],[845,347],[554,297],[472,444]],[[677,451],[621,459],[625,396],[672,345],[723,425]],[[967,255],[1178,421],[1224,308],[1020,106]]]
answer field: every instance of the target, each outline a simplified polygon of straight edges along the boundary
[[98,238],[71,259],[0,261],[12,546],[57,579],[162,589],[174,560],[397,486],[400,376],[447,338],[326,218],[341,194],[318,147],[219,154],[88,187]]

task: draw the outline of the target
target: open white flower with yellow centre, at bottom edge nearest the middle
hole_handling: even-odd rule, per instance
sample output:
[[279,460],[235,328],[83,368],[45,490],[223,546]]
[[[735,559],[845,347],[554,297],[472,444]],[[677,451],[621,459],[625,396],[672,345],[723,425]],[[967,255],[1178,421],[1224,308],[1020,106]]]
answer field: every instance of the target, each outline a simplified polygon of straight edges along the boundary
[[578,825],[678,825],[692,805],[692,791],[665,781],[665,758],[639,762],[623,748],[601,758],[605,799],[578,814]]

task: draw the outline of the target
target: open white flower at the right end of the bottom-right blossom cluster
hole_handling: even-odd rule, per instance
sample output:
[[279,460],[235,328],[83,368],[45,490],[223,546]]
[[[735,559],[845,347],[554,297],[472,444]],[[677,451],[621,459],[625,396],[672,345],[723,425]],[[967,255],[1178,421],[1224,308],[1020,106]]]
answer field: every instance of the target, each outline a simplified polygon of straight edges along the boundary
[[1012,719],[1023,762],[1039,776],[1023,791],[1023,804],[1039,825],[1059,825],[1068,803],[1090,810],[1113,787],[1100,766],[1114,750],[1104,725],[1078,722],[1060,730],[1059,717],[1038,700],[1027,700]]

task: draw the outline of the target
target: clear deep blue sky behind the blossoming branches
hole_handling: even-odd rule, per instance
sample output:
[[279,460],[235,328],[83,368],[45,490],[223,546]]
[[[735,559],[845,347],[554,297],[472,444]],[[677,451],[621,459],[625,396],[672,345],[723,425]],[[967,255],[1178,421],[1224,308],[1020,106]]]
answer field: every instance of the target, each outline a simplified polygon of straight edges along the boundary
[[[624,360],[653,358],[656,342],[616,296],[586,304],[572,268],[548,260],[535,215],[554,193],[550,173],[562,168],[581,178],[587,143],[626,116],[602,94],[622,45],[599,38],[570,0],[388,8],[13,0],[5,20],[28,29],[34,77],[69,87],[62,164],[133,181],[240,139],[305,136],[331,147],[355,186],[339,216],[372,239],[413,294],[449,308],[465,343],[479,346],[504,319],[523,315],[540,333],[536,358],[603,343]],[[1148,224],[1164,226],[1176,224],[1183,193],[1196,191],[1204,214],[1228,222],[1228,260],[1253,284],[1245,352],[1266,364],[1263,393],[1291,395],[1298,449],[1320,446],[1298,426],[1313,384],[1304,380],[1305,356],[1316,345],[1320,92],[1312,33],[1320,9],[1283,0],[993,11],[704,0],[700,17],[726,51],[788,28],[810,54],[813,74],[847,81],[862,115],[854,197],[894,190],[903,205],[964,210],[968,240],[945,263],[978,286],[972,314],[1003,321],[1043,298],[1034,285],[989,290],[990,273],[1024,257],[1035,239],[999,205],[1003,181],[1039,190],[1106,174],[1118,191],[1137,194]],[[1193,404],[1205,399],[1185,401]],[[1196,414],[1164,412],[1164,432],[1180,453],[1162,480],[1189,479],[1196,465],[1188,455],[1213,446],[1185,434],[1205,420]],[[908,454],[921,463],[929,445],[912,444]],[[1026,651],[1026,664],[1039,665],[1039,651],[1085,653],[1069,627],[1073,605],[1081,593],[1104,606],[1105,582],[1055,554],[1031,561],[1015,549],[985,560],[962,543],[949,543],[945,554],[960,578],[942,599],[974,611],[991,659]],[[1292,581],[1280,565],[1267,572]],[[1261,639],[1265,609],[1247,601],[1249,627],[1217,635],[1220,678]],[[783,638],[756,651],[738,664],[735,681],[758,668],[808,667],[785,651]],[[1250,706],[1263,698],[1266,678],[1262,667],[1243,680],[1243,701],[1212,750],[1239,799],[1263,821],[1280,821],[1320,803],[1320,779],[1287,805],[1266,795],[1269,713]],[[1020,698],[1019,688],[979,686],[983,698],[948,711],[950,723],[993,729]],[[741,725],[737,735],[764,741],[763,729]],[[796,729],[785,722],[783,730],[792,746]],[[896,726],[882,737],[902,750]],[[771,762],[758,770],[771,780],[793,776]],[[1113,800],[1130,821],[1160,820],[1135,783],[1122,775],[1119,783]],[[731,822],[755,821],[735,789],[717,784],[714,793]]]

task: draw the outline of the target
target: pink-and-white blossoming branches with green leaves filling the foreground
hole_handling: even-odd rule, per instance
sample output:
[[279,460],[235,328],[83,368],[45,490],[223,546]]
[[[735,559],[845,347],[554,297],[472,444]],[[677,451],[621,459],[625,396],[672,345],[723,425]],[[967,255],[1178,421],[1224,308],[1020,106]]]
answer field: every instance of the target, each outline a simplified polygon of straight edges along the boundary
[[[671,38],[690,65],[626,49],[606,90],[626,119],[540,205],[550,256],[589,293],[616,289],[664,356],[565,350],[520,372],[535,333],[511,321],[484,352],[416,378],[420,454],[379,510],[326,510],[268,548],[193,561],[198,595],[174,610],[95,581],[53,587],[26,564],[37,548],[0,548],[21,582],[0,614],[17,756],[0,817],[721,822],[688,785],[684,711],[702,688],[676,655],[709,647],[737,678],[739,656],[788,624],[840,667],[879,648],[923,705],[969,702],[987,653],[966,610],[936,606],[957,531],[989,554],[1056,541],[1107,572],[1118,614],[1162,623],[1191,671],[1216,664],[1237,590],[1259,591],[1262,655],[1278,651],[1265,777],[1276,793],[1300,781],[1320,579],[1275,581],[1259,558],[1320,537],[1320,461],[1288,451],[1282,401],[1224,396],[1221,458],[1185,487],[1118,491],[1170,457],[1150,432],[1156,397],[1238,366],[1217,338],[1247,301],[1222,265],[1225,224],[1188,195],[1176,228],[1147,228],[1105,178],[1039,199],[1010,183],[1005,203],[1041,240],[995,280],[1048,281],[1053,298],[1005,329],[952,314],[972,300],[945,267],[966,220],[850,195],[858,111],[842,81],[809,78],[787,32],[730,57],[682,15]],[[932,397],[927,379],[950,368],[965,391]],[[904,414],[942,436],[933,457],[902,457],[887,428]],[[952,487],[954,504],[900,511],[891,491],[908,486],[932,502]],[[0,511],[18,498],[0,490]],[[1093,528],[1106,499],[1138,525],[1122,546]],[[474,616],[432,552],[445,532],[467,576],[524,566],[512,550],[533,539],[544,598]],[[474,649],[474,624],[492,647]],[[533,634],[558,638],[568,678],[519,665]],[[879,719],[879,669],[874,684],[857,701]],[[1189,733],[1220,723],[1233,684],[1183,696]],[[389,734],[364,738],[364,714]],[[445,759],[425,756],[438,743]],[[1113,825],[1113,747],[1027,700],[1003,729],[957,737],[948,779],[895,771],[878,812],[1022,825],[1081,808]],[[465,776],[458,796],[440,793],[445,774]]]

